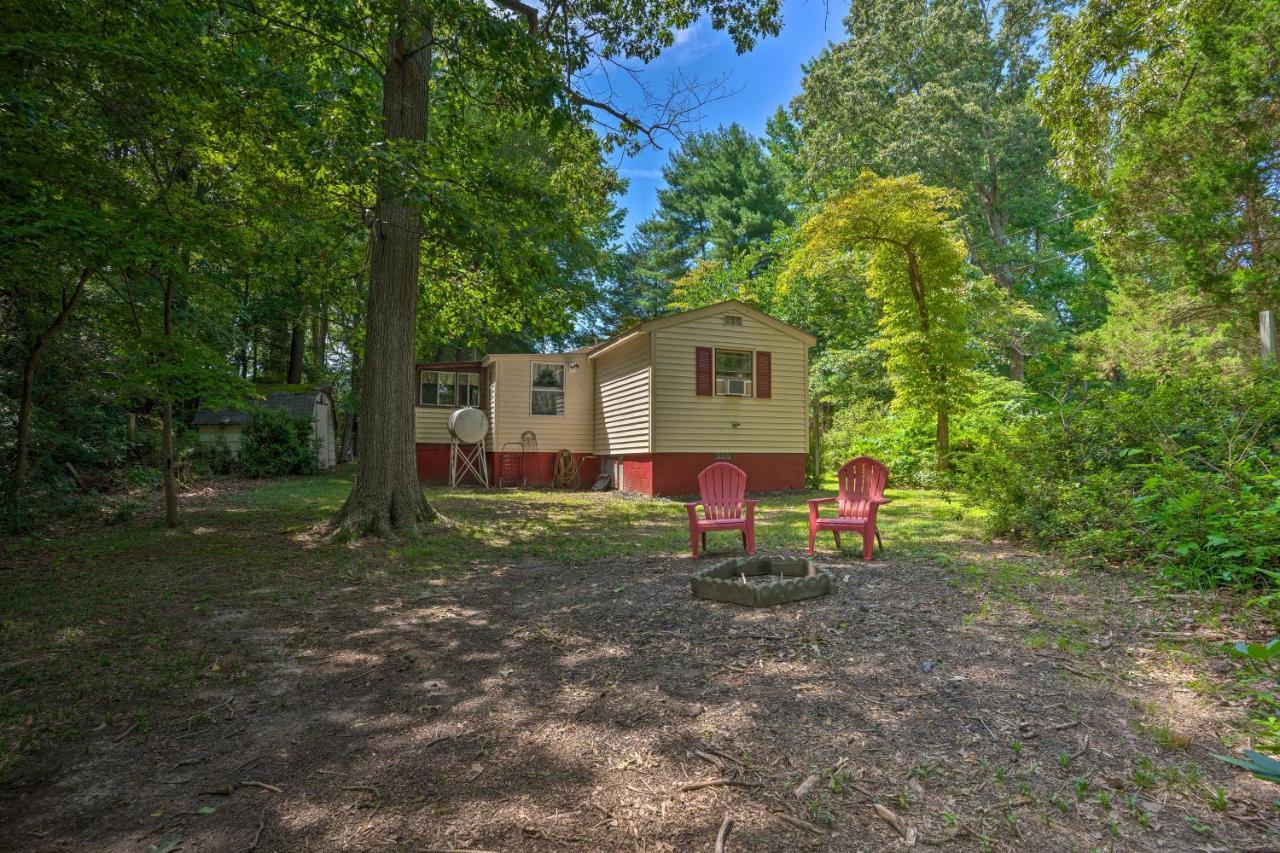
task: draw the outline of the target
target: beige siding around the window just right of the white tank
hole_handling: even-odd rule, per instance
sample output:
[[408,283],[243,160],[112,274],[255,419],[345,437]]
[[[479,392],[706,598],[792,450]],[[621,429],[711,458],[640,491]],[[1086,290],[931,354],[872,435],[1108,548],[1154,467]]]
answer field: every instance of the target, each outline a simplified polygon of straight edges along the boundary
[[[564,414],[532,414],[532,368],[535,361],[564,365]],[[570,365],[577,369],[571,370]],[[538,435],[538,450],[552,452],[568,448],[575,453],[593,452],[595,388],[591,362],[586,353],[493,356],[490,375],[495,377],[494,450],[507,442],[520,443],[525,430]]]

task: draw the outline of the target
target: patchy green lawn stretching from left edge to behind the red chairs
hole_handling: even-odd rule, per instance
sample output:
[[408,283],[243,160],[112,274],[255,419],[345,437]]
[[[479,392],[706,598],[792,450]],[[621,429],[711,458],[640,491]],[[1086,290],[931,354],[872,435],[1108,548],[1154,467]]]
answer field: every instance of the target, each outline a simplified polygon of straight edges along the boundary
[[[150,725],[180,713],[210,680],[241,678],[253,661],[211,619],[292,603],[358,581],[447,581],[524,560],[577,564],[611,556],[689,553],[678,501],[617,493],[426,489],[448,523],[420,542],[325,544],[312,528],[338,508],[349,474],[283,479],[186,501],[183,524],[156,519],[0,546],[0,777],[19,756],[97,727]],[[758,507],[765,551],[801,551],[805,498],[768,494]],[[886,546],[929,557],[973,537],[975,516],[936,492],[896,489],[883,510]],[[845,539],[852,556],[856,537]],[[710,552],[740,553],[736,534]],[[829,534],[819,553],[832,553]],[[173,706],[168,711],[165,706]]]

